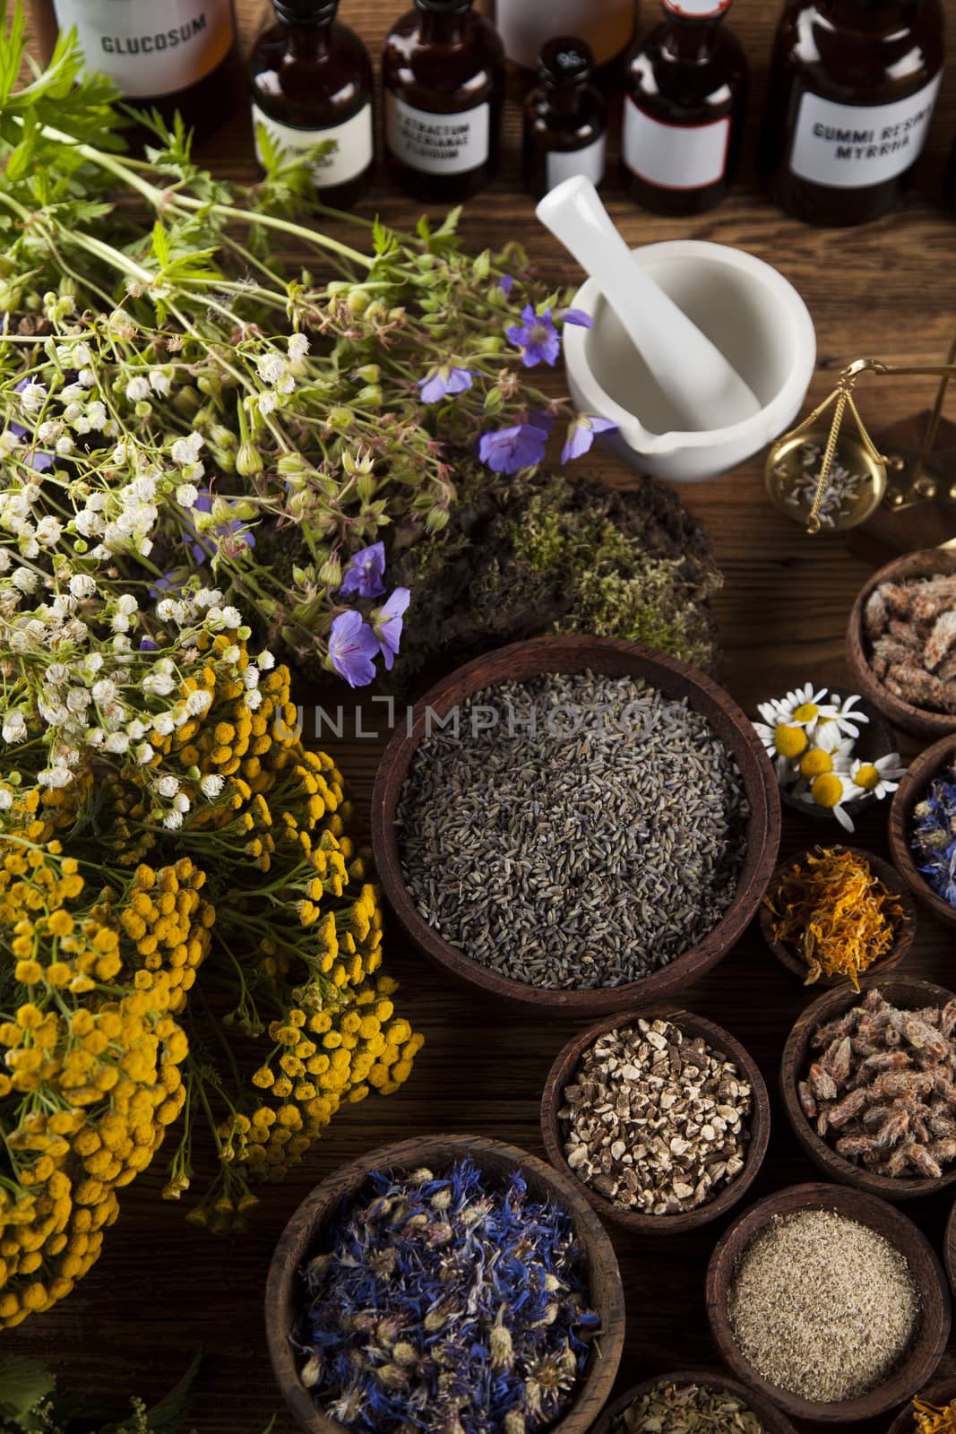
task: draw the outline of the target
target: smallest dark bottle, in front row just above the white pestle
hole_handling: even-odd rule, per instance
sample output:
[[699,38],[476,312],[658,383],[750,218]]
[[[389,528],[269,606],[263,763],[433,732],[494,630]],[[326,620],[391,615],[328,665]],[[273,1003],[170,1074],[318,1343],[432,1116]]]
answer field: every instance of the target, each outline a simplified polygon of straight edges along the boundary
[[608,115],[601,90],[589,83],[593,63],[591,46],[568,34],[549,40],[537,57],[522,148],[525,185],[536,199],[572,175],[595,185],[603,179]]

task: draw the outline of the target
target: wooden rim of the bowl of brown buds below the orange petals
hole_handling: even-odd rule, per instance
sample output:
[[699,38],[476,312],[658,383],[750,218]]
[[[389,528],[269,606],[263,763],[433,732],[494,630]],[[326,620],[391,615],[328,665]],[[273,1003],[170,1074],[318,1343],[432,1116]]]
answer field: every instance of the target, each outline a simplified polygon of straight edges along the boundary
[[831,1021],[857,1005],[873,987],[879,987],[887,1001],[903,1010],[917,1010],[923,1005],[946,1005],[947,1001],[953,999],[952,991],[932,985],[929,981],[917,981],[912,977],[887,977],[883,979],[880,975],[863,977],[859,995],[850,985],[843,985],[836,991],[821,995],[800,1015],[787,1037],[780,1063],[780,1090],[787,1120],[797,1140],[813,1163],[828,1179],[896,1203],[897,1200],[913,1200],[923,1195],[935,1195],[946,1189],[946,1186],[953,1184],[956,1182],[956,1164],[937,1179],[912,1174],[894,1179],[893,1176],[876,1174],[873,1170],[856,1166],[851,1160],[844,1160],[843,1156],[837,1154],[833,1146],[823,1136],[817,1134],[813,1124],[804,1116],[797,1094],[797,1083],[803,1078],[810,1064],[810,1037],[816,1028],[823,1025],[824,1021]]

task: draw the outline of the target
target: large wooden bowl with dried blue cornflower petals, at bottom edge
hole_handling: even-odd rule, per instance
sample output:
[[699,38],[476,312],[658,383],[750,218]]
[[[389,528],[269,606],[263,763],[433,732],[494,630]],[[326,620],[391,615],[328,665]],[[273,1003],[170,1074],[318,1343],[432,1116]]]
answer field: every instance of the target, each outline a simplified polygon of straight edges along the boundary
[[272,1256],[265,1329],[308,1434],[585,1434],[625,1304],[573,1180],[499,1140],[424,1136],[305,1197]]

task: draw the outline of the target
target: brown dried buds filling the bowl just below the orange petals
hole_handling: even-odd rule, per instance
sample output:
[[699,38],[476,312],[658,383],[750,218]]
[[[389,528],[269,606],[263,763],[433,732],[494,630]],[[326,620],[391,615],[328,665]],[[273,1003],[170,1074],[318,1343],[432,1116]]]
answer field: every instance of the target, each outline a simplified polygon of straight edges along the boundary
[[902,1011],[877,989],[811,1038],[798,1084],[817,1134],[876,1174],[939,1177],[956,1160],[956,999]]

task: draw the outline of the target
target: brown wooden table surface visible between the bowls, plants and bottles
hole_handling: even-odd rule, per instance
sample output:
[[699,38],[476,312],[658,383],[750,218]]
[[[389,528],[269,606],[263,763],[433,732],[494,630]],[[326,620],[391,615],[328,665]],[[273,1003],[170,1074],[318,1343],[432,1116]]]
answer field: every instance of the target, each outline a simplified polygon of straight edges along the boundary
[[[956,0],[946,0],[950,22]],[[244,42],[262,24],[269,6],[239,0]],[[358,29],[373,54],[398,4],[344,0],[343,17]],[[757,79],[751,146],[761,113],[765,66],[780,6],[737,0],[730,23],[750,52]],[[644,20],[655,13],[645,3]],[[821,397],[850,358],[874,354],[902,361],[943,358],[956,323],[956,222],[937,194],[956,132],[956,67],[946,77],[930,149],[903,212],[864,229],[824,232],[781,217],[754,191],[747,175],[740,192],[698,221],[659,219],[611,194],[609,204],[631,242],[694,237],[737,244],[775,264],[803,293],[818,336]],[[555,278],[572,277],[558,245],[540,231],[532,202],[519,186],[516,109],[509,106],[502,178],[464,214],[462,232],[476,251],[505,238],[523,241]],[[245,115],[204,146],[215,169],[249,175]],[[417,205],[378,186],[361,212],[380,209],[388,222],[408,224]],[[879,426],[932,397],[932,381],[871,380],[861,389],[864,414]],[[623,480],[601,457],[580,472]],[[866,576],[840,538],[804,536],[767,502],[761,465],[718,482],[684,489],[688,506],[712,533],[725,587],[717,599],[724,647],[722,680],[745,707],[801,681],[844,678],[843,635],[853,597]],[[956,511],[946,538],[956,532]],[[307,693],[297,693],[308,701]],[[351,780],[363,819],[380,747],[338,746],[335,756]],[[886,810],[860,825],[861,845],[883,852]],[[827,827],[784,816],[784,850],[820,839]],[[956,984],[953,942],[929,916],[920,918],[907,969]],[[130,1392],[159,1395],[189,1364],[198,1345],[208,1354],[191,1423],[199,1434],[259,1434],[277,1414],[277,1431],[291,1420],[272,1384],[262,1338],[261,1301],[275,1239],[305,1192],[341,1162],[390,1140],[429,1131],[499,1136],[543,1153],[537,1131],[539,1097],[550,1061],[570,1034],[566,1025],[529,1021],[483,1005],[453,989],[421,965],[388,931],[390,968],[401,978],[401,1011],[426,1032],[427,1044],[410,1083],[387,1100],[345,1108],[321,1146],[284,1186],[262,1190],[262,1205],[245,1236],[215,1240],[183,1222],[183,1210],[159,1199],[162,1173],[148,1172],[123,1192],[118,1225],[105,1253],[64,1304],[33,1316],[7,1336],[7,1347],[47,1358],[64,1384],[122,1401]],[[707,979],[687,992],[687,1004],[727,1025],[757,1057],[774,1094],[770,1154],[758,1197],[810,1179],[785,1124],[777,1094],[784,1037],[806,1002],[800,984],[761,945],[751,929]],[[158,1162],[159,1164],[159,1162]],[[910,1213],[939,1242],[947,1202],[919,1202]],[[613,1235],[628,1296],[628,1341],[621,1388],[677,1367],[714,1364],[704,1315],[704,1271],[722,1225],[675,1242],[654,1243]],[[952,1364],[945,1365],[949,1372]],[[886,1428],[889,1418],[873,1428]]]

